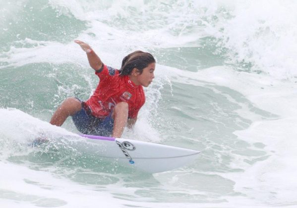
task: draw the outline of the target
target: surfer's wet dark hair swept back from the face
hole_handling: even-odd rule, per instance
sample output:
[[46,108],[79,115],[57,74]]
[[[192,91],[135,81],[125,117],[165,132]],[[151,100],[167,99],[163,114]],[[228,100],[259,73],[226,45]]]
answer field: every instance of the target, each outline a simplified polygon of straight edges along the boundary
[[131,52],[123,58],[119,76],[130,75],[133,68],[137,68],[141,74],[145,67],[155,62],[156,60],[151,53],[142,51]]

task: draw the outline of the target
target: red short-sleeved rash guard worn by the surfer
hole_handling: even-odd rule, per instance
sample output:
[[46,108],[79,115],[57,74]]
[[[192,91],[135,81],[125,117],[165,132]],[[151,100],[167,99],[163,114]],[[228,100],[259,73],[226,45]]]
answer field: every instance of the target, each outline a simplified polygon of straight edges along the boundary
[[129,105],[128,117],[136,118],[145,102],[142,86],[136,86],[128,76],[119,76],[119,70],[105,64],[95,74],[100,82],[94,94],[86,101],[92,115],[105,118],[117,103],[126,102]]

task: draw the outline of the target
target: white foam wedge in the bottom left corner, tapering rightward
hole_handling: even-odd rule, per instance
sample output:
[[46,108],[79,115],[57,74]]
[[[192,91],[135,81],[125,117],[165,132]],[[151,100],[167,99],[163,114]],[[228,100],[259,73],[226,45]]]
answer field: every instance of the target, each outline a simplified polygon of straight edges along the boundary
[[[1,161],[0,167],[0,193],[1,198],[7,199],[5,204],[8,207],[19,207],[18,203],[26,208],[35,206],[85,207],[86,202],[92,205],[116,207],[122,204],[121,200],[112,198],[110,194],[103,192],[100,192],[100,195],[95,194],[96,192],[88,187],[53,177],[49,172],[32,170]],[[3,206],[2,201],[1,205]]]

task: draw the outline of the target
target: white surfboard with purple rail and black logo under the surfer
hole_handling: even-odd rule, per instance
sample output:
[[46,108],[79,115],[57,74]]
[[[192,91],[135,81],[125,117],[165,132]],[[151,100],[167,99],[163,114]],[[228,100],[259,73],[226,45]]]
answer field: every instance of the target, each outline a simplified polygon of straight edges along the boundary
[[121,163],[139,170],[157,173],[172,170],[192,162],[199,151],[160,145],[137,140],[80,135],[86,138],[88,152],[98,156],[117,158]]

